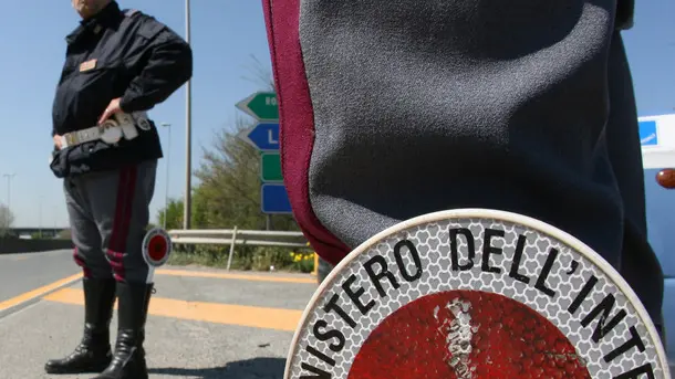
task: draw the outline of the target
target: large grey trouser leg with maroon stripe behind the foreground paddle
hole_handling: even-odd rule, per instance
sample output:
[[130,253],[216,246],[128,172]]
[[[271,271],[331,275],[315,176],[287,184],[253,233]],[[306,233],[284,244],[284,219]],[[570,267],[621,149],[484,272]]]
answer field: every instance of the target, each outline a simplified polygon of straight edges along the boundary
[[428,212],[512,211],[590,245],[661,324],[636,115],[622,113],[631,2],[262,2],[284,183],[322,257]]

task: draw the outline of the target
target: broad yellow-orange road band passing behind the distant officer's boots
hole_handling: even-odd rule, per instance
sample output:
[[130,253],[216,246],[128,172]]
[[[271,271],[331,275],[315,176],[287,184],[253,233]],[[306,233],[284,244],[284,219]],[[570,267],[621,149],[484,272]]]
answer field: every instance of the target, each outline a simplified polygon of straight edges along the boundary
[[[84,305],[82,291],[63,288],[44,297],[45,301]],[[243,305],[176,301],[153,297],[148,313],[193,322],[249,326],[255,328],[294,331],[302,310],[263,308]]]

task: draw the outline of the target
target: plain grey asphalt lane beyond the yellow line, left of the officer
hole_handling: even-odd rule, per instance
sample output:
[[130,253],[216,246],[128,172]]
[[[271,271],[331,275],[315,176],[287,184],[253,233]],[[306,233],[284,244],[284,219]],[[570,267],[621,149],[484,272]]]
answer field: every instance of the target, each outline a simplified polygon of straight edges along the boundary
[[0,255],[0,303],[77,274],[72,250]]

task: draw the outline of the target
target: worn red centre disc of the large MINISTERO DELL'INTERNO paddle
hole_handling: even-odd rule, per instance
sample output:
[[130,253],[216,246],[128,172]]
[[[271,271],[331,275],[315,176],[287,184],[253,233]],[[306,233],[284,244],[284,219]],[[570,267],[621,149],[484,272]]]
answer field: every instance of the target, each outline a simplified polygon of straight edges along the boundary
[[590,379],[568,338],[509,297],[450,291],[418,298],[382,322],[349,379]]

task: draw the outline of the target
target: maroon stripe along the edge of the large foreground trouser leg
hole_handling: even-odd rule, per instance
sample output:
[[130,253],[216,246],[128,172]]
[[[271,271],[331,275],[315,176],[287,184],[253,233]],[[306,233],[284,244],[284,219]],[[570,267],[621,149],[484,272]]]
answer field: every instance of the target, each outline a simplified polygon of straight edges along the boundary
[[283,183],[293,215],[316,253],[335,264],[350,252],[316,218],[310,203],[309,169],[314,147],[314,109],[300,48],[300,0],[262,0],[274,86]]

